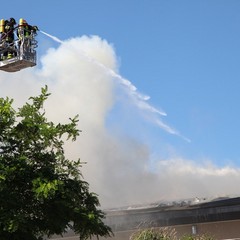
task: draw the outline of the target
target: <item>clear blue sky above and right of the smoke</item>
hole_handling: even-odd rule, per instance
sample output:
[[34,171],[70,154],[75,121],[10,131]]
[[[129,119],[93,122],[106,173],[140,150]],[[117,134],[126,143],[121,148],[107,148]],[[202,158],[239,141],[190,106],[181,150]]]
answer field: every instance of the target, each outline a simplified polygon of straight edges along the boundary
[[171,145],[186,158],[207,157],[220,166],[239,166],[239,13],[238,0],[1,3],[1,18],[23,17],[63,40],[98,35],[112,43],[120,74],[191,139],[149,127],[155,151]]

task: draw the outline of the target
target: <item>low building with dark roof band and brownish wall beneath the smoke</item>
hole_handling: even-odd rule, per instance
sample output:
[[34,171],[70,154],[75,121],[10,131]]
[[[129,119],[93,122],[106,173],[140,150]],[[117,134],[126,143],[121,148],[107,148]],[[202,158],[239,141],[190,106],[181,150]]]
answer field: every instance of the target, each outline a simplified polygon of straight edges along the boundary
[[[139,229],[158,227],[174,228],[179,238],[207,234],[219,240],[240,239],[240,197],[111,209],[106,211],[106,224],[114,232],[114,237],[108,239],[114,240],[129,240]],[[68,233],[54,239],[77,240],[79,237]]]

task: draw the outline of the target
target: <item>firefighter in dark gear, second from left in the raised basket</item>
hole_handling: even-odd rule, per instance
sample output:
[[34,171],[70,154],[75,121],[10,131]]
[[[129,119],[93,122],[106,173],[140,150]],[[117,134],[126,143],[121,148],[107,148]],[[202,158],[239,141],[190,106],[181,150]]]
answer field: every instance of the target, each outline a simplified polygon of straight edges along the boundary
[[16,51],[11,50],[11,49],[14,49],[14,30],[15,30],[14,26],[15,25],[16,25],[16,21],[14,18],[10,18],[9,21],[8,20],[5,21],[6,36],[4,36],[4,40],[8,44],[8,47],[10,48],[10,50],[6,51],[3,54],[5,59],[12,58],[13,55],[16,53]]

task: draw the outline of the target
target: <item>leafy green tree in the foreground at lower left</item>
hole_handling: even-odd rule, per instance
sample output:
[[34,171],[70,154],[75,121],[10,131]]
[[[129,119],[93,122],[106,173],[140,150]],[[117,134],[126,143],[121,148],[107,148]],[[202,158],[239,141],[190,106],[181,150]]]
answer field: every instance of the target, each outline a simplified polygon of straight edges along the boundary
[[40,240],[68,229],[81,240],[111,236],[80,160],[65,157],[64,140],[80,133],[78,117],[47,121],[49,95],[46,86],[18,110],[12,99],[0,98],[0,239]]

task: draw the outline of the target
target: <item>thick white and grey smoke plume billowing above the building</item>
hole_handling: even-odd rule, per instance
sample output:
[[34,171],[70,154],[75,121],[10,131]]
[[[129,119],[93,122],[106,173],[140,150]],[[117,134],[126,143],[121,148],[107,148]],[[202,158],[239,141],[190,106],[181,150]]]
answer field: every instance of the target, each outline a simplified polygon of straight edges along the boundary
[[[106,124],[109,112],[121,101],[118,94],[124,92],[127,96],[122,104],[152,112],[161,128],[180,134],[156,117],[154,111],[158,110],[117,73],[117,57],[107,41],[83,36],[58,42],[58,48],[49,49],[41,57],[41,67],[1,72],[0,96],[14,98],[21,106],[48,85],[52,93],[46,105],[49,120],[65,122],[79,114],[82,133],[77,142],[66,145],[66,152],[69,158],[80,157],[87,162],[83,176],[91,190],[99,194],[103,208],[238,193],[235,183],[240,180],[240,169],[219,168],[210,161],[196,164],[171,156],[159,156],[152,166],[149,146],[124,132],[116,134]],[[164,112],[159,111],[159,115]]]

